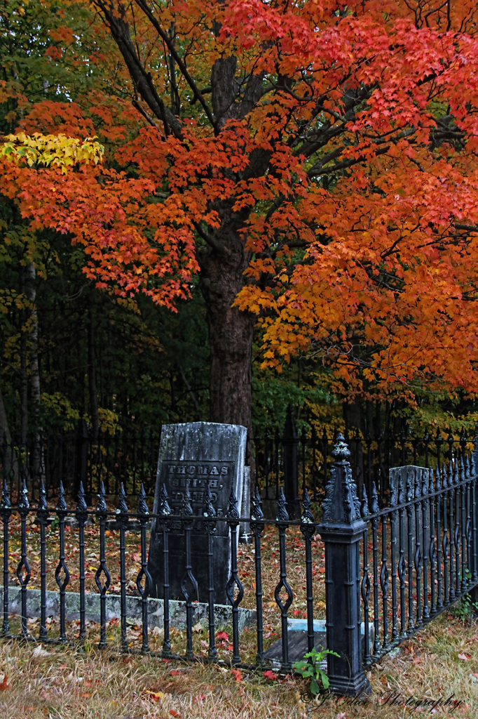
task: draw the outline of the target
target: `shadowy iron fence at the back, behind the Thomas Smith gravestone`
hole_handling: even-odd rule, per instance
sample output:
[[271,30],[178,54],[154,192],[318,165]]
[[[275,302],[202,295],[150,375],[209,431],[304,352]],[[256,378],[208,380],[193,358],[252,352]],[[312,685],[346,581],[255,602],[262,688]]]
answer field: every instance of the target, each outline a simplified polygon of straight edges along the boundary
[[[158,463],[159,429],[129,427],[113,434],[91,436],[84,419],[78,421],[74,431],[52,430],[30,435],[25,442],[3,438],[0,461],[4,481],[10,495],[19,496],[21,480],[25,478],[32,500],[36,500],[40,479],[43,480],[47,499],[55,497],[60,481],[67,495],[76,496],[80,482],[85,498],[91,505],[93,495],[103,481],[106,495],[118,495],[121,483],[127,496],[137,497],[142,484],[146,495],[154,493]],[[283,487],[288,506],[297,503],[307,489],[311,500],[322,501],[329,472],[334,462],[332,449],[337,431],[324,427],[319,436],[314,426],[300,433],[296,429],[294,414],[289,406],[283,431],[266,429],[263,436],[252,438],[256,484],[261,496],[278,499]],[[432,436],[428,430],[423,436],[411,434],[406,424],[395,436],[393,429],[367,432],[358,431],[351,436],[345,431],[350,447],[350,464],[355,484],[362,493],[372,492],[372,482],[378,493],[378,503],[384,507],[390,497],[388,477],[390,469],[405,464],[435,467],[436,464],[460,456],[471,448],[464,431],[446,439],[440,429]]]

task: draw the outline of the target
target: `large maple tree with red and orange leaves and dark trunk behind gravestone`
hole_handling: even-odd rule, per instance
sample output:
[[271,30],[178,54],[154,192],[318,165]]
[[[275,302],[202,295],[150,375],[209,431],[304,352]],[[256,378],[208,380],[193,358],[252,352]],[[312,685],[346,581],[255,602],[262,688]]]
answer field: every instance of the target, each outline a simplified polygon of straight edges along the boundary
[[257,320],[267,363],[311,351],[350,395],[476,390],[473,2],[91,6],[116,93],[39,102],[19,129],[98,136],[105,160],[4,157],[1,191],[119,296],[174,308],[199,273],[212,421],[250,429]]

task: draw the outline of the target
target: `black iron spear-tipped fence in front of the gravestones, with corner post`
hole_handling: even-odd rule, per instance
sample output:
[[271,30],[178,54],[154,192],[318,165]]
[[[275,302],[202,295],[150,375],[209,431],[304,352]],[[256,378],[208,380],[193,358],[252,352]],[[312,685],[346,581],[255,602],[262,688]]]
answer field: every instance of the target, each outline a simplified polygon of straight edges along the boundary
[[[451,443],[450,443],[451,444]],[[250,516],[238,515],[238,503],[234,493],[230,495],[226,516],[216,516],[212,497],[206,494],[203,512],[204,531],[208,536],[208,591],[207,591],[207,627],[209,643],[207,658],[202,661],[217,661],[217,642],[214,602],[214,531],[217,523],[225,522],[229,527],[232,561],[227,596],[232,609],[233,648],[230,664],[244,666],[240,650],[240,623],[238,615],[243,601],[244,588],[238,572],[237,541],[241,522],[247,522],[253,536],[256,595],[256,661],[246,664],[249,668],[264,667],[263,635],[263,558],[261,554],[263,533],[266,525],[276,527],[278,538],[278,583],[275,600],[281,618],[281,672],[290,673],[291,657],[289,651],[288,619],[294,607],[294,592],[289,586],[286,557],[286,535],[291,526],[300,528],[304,541],[304,577],[306,585],[307,646],[314,647],[314,603],[312,600],[314,578],[312,559],[314,552],[325,554],[325,596],[327,648],[339,656],[327,656],[330,687],[340,694],[362,694],[370,690],[364,669],[387,653],[401,641],[436,618],[444,609],[456,600],[476,594],[478,585],[477,563],[477,459],[478,444],[474,444],[471,455],[467,454],[466,438],[461,436],[461,453],[452,456],[437,465],[434,473],[416,472],[398,478],[395,487],[390,483],[387,504],[380,503],[380,493],[372,480],[370,492],[362,485],[360,495],[354,482],[350,464],[350,448],[341,435],[337,436],[332,451],[333,463],[327,476],[325,499],[322,505],[322,518],[316,523],[311,511],[309,493],[304,490],[301,503],[301,515],[291,520],[287,510],[286,496],[282,487],[278,488],[278,510],[275,521],[264,518],[261,510],[261,495],[256,487],[250,507]],[[452,451],[450,449],[450,454]],[[439,455],[443,459],[443,455]],[[9,590],[12,585],[19,586],[21,595],[19,638],[29,641],[27,618],[29,615],[29,582],[32,572],[29,567],[27,546],[27,521],[34,515],[39,524],[39,577],[40,577],[40,627],[35,641],[67,641],[65,629],[65,598],[68,593],[70,571],[65,560],[65,522],[68,516],[75,516],[78,522],[78,571],[80,592],[78,610],[80,623],[78,641],[86,636],[86,599],[85,592],[85,525],[91,515],[95,515],[98,537],[88,541],[99,541],[99,561],[95,574],[95,584],[100,595],[100,641],[99,647],[108,646],[106,636],[106,601],[111,584],[106,555],[106,523],[108,518],[116,518],[119,528],[120,554],[120,596],[121,607],[121,651],[132,651],[128,646],[127,620],[128,603],[126,595],[126,529],[131,519],[136,520],[141,536],[141,568],[136,579],[136,588],[141,601],[142,641],[141,651],[149,651],[149,590],[151,577],[147,566],[147,528],[151,518],[156,519],[156,529],[163,534],[164,569],[164,638],[162,649],[156,652],[164,659],[192,661],[198,659],[193,651],[193,608],[197,598],[197,582],[192,573],[191,528],[192,508],[188,493],[184,495],[182,511],[178,516],[172,514],[165,487],[161,490],[159,511],[149,513],[144,486],[139,488],[139,503],[135,513],[128,510],[124,487],[118,487],[118,504],[115,511],[108,510],[106,491],[100,482],[98,503],[94,510],[85,503],[85,491],[80,483],[78,503],[75,508],[68,507],[65,493],[60,482],[55,510],[47,507],[46,490],[43,482],[39,484],[37,506],[29,504],[26,482],[20,487],[17,504],[12,506],[9,485],[4,478],[0,503],[0,516],[3,523],[3,624],[1,636],[10,638],[11,607]],[[46,590],[46,542],[45,529],[50,521],[49,513],[57,517],[59,539],[59,557],[55,571],[58,586],[60,633],[59,638],[50,640],[47,626],[47,590]],[[17,570],[11,574],[9,565],[9,523],[11,516],[17,513],[20,518],[21,556]],[[182,594],[186,610],[186,651],[178,656],[172,651],[170,640],[169,615],[169,549],[168,533],[173,521],[182,522],[186,536],[184,557],[184,577]],[[314,541],[318,532],[323,545]],[[72,535],[70,534],[71,541]],[[365,631],[361,630],[364,625]],[[372,628],[372,631],[369,630]]]

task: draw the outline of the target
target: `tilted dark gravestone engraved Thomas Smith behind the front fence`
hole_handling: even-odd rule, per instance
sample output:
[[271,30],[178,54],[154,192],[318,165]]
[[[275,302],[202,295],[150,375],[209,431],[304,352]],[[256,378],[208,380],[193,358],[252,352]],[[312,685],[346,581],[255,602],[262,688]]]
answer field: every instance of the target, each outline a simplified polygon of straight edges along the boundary
[[[186,487],[189,487],[193,515],[191,533],[192,574],[197,581],[199,602],[208,600],[207,533],[203,512],[207,485],[217,516],[225,516],[231,489],[238,499],[238,512],[244,508],[245,443],[247,430],[233,424],[193,422],[164,425],[161,430],[153,513],[159,508],[164,485],[172,513],[180,514]],[[157,528],[156,528],[157,527]],[[230,575],[230,536],[228,523],[218,521],[214,542],[215,603],[227,604],[226,585]],[[169,598],[184,600],[181,582],[186,567],[186,539],[182,520],[169,523]],[[153,580],[151,597],[164,598],[164,553],[161,526],[153,519],[149,543],[148,569]]]

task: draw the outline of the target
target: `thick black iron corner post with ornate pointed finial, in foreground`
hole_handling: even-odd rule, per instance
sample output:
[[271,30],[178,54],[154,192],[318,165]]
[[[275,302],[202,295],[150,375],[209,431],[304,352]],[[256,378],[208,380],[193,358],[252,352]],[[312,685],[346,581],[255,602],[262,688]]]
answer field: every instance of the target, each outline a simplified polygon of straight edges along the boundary
[[[325,545],[327,676],[339,695],[367,695],[370,684],[362,669],[360,632],[360,540],[367,524],[352,480],[350,449],[342,434],[332,450],[329,482],[317,531]],[[368,631],[368,627],[365,627]]]

